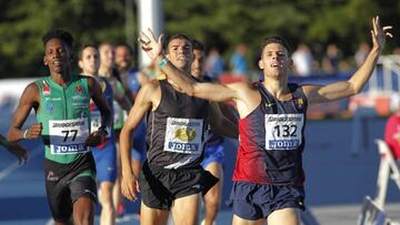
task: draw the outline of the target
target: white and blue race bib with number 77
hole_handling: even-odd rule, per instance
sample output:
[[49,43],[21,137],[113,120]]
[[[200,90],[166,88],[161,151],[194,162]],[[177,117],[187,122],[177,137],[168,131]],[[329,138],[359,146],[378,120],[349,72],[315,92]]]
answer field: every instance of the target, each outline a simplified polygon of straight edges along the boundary
[[77,154],[89,151],[88,119],[49,121],[51,154]]

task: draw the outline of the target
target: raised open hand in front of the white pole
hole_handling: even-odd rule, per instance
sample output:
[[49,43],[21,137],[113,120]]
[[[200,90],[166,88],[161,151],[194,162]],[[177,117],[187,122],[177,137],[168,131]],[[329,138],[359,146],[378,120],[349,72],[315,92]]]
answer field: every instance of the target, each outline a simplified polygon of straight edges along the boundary
[[162,53],[162,38],[163,34],[156,40],[154,33],[149,28],[146,31],[140,32],[138,41],[149,58],[156,60],[156,58]]

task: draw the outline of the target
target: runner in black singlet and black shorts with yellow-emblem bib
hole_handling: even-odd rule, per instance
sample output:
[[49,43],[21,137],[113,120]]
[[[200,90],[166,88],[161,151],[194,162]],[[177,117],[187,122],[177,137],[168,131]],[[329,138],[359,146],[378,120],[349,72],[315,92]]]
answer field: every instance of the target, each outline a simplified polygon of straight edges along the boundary
[[[193,51],[183,34],[166,42],[166,53],[179,70],[190,73]],[[159,67],[164,64],[160,63]],[[234,136],[237,126],[222,116],[216,104],[174,90],[167,80],[153,80],[142,86],[121,131],[122,194],[137,198],[139,178],[142,198],[140,223],[166,224],[172,213],[174,224],[196,224],[199,219],[199,196],[218,178],[204,171],[206,125]],[[147,116],[148,154],[140,174],[130,163],[130,135]]]

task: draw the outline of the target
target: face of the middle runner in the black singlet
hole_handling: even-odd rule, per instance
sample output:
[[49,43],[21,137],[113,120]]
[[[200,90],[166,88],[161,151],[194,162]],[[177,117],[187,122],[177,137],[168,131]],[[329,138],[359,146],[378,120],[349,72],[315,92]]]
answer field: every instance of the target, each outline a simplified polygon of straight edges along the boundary
[[168,44],[168,57],[170,62],[180,70],[190,70],[193,60],[193,50],[190,41],[186,39],[173,39]]

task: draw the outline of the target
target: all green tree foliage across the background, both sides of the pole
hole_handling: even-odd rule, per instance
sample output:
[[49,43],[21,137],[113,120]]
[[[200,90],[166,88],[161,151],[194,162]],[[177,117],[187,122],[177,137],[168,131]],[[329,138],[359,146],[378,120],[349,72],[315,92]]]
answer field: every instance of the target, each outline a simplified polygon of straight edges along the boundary
[[[321,49],[336,42],[350,55],[359,42],[370,42],[376,14],[394,25],[387,51],[400,43],[400,3],[393,0],[164,0],[163,6],[166,33],[187,33],[218,47],[226,59],[246,43],[256,61],[268,35],[284,37],[292,49],[299,42]],[[3,0],[0,8],[0,78],[42,74],[40,39],[51,28],[73,34],[74,52],[82,43],[126,40],[124,0]],[[136,34],[137,28],[133,21],[129,29]]]

